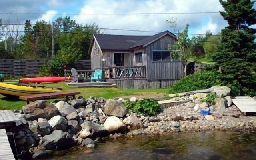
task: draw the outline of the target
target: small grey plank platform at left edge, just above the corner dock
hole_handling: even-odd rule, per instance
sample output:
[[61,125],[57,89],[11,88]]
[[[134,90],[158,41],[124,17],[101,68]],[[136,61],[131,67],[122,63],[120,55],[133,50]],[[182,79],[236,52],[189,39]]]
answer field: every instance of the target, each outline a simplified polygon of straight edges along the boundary
[[21,121],[11,110],[0,110],[0,129],[8,126],[18,126],[20,124]]

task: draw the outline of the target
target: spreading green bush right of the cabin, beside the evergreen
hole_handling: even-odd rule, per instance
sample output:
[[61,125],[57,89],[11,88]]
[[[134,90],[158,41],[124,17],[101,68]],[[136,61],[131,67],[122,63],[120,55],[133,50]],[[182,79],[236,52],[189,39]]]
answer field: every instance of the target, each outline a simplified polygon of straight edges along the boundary
[[171,86],[168,94],[202,90],[216,85],[230,87],[232,95],[239,95],[242,89],[237,80],[228,81],[218,70],[210,70],[182,78],[179,82]]

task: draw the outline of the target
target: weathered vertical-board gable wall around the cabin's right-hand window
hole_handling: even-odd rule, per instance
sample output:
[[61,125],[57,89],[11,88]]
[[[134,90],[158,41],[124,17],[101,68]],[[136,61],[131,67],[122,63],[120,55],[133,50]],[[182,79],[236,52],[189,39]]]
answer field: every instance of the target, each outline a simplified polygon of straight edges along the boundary
[[166,35],[144,48],[148,80],[179,80],[182,78],[181,62],[153,62],[152,50],[168,50],[168,45],[174,44],[175,39]]

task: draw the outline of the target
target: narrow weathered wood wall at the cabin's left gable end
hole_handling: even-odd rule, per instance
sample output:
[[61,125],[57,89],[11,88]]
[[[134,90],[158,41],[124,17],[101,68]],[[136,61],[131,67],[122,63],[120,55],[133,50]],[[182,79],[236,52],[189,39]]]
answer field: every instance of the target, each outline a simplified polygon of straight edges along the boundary
[[102,66],[102,52],[100,46],[94,40],[91,52],[91,68],[92,70],[101,69]]

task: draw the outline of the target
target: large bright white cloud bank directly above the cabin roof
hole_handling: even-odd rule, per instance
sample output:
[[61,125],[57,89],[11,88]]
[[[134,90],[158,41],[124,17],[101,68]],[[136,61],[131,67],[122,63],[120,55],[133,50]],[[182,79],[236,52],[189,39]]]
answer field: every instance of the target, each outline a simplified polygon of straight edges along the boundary
[[[86,0],[80,13],[177,13],[177,12],[218,12],[223,10],[217,0]],[[202,4],[204,4],[202,7]],[[162,15],[76,15],[78,23],[96,23],[101,28],[129,30],[164,31],[171,30],[166,23],[169,18],[177,18],[177,30],[186,23],[191,29],[212,29],[220,31],[226,25],[220,14],[162,14]],[[204,24],[211,19],[210,24]],[[207,28],[209,27],[209,28]],[[200,32],[198,30],[198,32]],[[143,32],[125,32],[106,30],[108,34],[149,34]],[[152,33],[154,34],[154,33]]]

